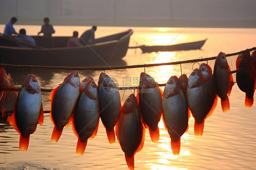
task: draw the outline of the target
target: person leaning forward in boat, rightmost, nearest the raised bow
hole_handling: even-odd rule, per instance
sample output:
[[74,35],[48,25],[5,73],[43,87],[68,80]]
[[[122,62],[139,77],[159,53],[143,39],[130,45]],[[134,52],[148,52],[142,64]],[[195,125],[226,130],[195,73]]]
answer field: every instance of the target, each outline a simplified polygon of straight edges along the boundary
[[86,30],[80,37],[80,43],[82,45],[95,44],[95,31],[97,26],[93,25],[92,29]]

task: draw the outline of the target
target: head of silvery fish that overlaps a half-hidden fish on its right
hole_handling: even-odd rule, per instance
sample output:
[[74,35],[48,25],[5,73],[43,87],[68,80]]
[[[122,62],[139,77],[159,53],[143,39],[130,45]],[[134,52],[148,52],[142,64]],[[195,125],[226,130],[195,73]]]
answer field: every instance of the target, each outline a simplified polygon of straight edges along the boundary
[[188,88],[195,88],[200,86],[203,83],[202,78],[203,75],[200,70],[193,70],[192,73],[189,75]]

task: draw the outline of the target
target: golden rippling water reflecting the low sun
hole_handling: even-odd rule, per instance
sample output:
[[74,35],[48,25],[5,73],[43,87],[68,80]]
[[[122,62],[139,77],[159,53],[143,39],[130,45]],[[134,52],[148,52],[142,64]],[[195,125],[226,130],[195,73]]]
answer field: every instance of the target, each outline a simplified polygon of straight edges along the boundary
[[[0,30],[4,26],[0,25]],[[27,34],[36,35],[40,26],[15,25],[15,29],[26,28]],[[89,27],[55,26],[57,35],[71,35],[73,30],[80,34]],[[128,30],[123,27],[99,27],[97,37]],[[233,53],[256,46],[256,29],[211,29],[211,28],[132,28],[134,34],[130,46],[167,45],[208,38],[202,50],[141,54],[140,50],[128,50],[120,65],[162,63],[179,60],[212,57],[220,51]],[[183,30],[184,29],[184,30]],[[182,31],[183,30],[183,31]],[[178,36],[177,36],[178,35]],[[177,36],[177,37],[176,37]],[[175,38],[176,37],[176,38]],[[175,38],[175,39],[174,39]],[[174,40],[173,40],[174,39]],[[173,40],[173,41],[172,41]],[[111,63],[110,63],[111,65]],[[234,66],[234,65],[233,65]],[[191,70],[188,65],[187,70]],[[171,75],[180,75],[174,66],[145,68],[159,83],[165,83]],[[138,85],[137,77],[144,68],[106,71],[115,77],[119,86]],[[20,86],[27,73],[33,72],[42,88],[55,88],[67,75],[67,71],[22,70],[12,72],[16,86]],[[97,82],[100,71],[80,72],[81,79],[92,75]],[[129,79],[131,78],[131,80]],[[129,83],[129,84],[128,84]],[[130,92],[121,96],[123,100]],[[122,94],[123,95],[123,94]],[[43,96],[44,110],[49,110],[49,94]],[[194,119],[189,120],[189,131],[182,136],[180,154],[173,155],[170,138],[159,123],[160,140],[153,143],[146,131],[143,150],[135,155],[135,169],[139,170],[199,170],[199,169],[255,169],[256,167],[256,104],[244,107],[245,94],[237,85],[230,95],[230,111],[223,113],[220,102],[214,114],[205,121],[203,136],[194,135]],[[77,137],[72,128],[63,130],[58,143],[51,141],[53,125],[49,114],[44,116],[43,126],[30,137],[28,151],[19,151],[19,134],[0,123],[0,167],[3,169],[118,169],[127,170],[124,153],[117,140],[108,143],[105,128],[100,122],[97,136],[88,140],[85,153],[77,155]]]

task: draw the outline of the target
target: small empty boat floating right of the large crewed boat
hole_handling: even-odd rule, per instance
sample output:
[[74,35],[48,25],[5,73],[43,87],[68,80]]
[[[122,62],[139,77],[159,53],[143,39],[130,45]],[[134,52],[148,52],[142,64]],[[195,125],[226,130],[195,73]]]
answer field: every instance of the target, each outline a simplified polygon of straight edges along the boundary
[[174,45],[153,45],[146,46],[141,45],[138,47],[129,47],[129,48],[140,48],[143,53],[151,53],[157,51],[181,51],[181,50],[197,50],[201,49],[201,47],[205,44],[205,40],[182,43],[182,44],[174,44]]

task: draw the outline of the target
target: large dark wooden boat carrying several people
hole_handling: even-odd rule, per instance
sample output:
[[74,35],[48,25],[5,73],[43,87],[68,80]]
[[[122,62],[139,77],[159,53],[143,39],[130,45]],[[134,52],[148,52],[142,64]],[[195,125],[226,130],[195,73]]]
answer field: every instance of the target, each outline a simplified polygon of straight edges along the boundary
[[[89,66],[111,65],[128,50],[133,30],[96,39],[96,44],[66,47],[69,37],[32,36],[36,45],[17,46],[15,38],[0,34],[0,63],[14,65]],[[14,40],[13,40],[14,39]],[[48,47],[48,48],[43,48]],[[53,48],[49,48],[53,47]]]

